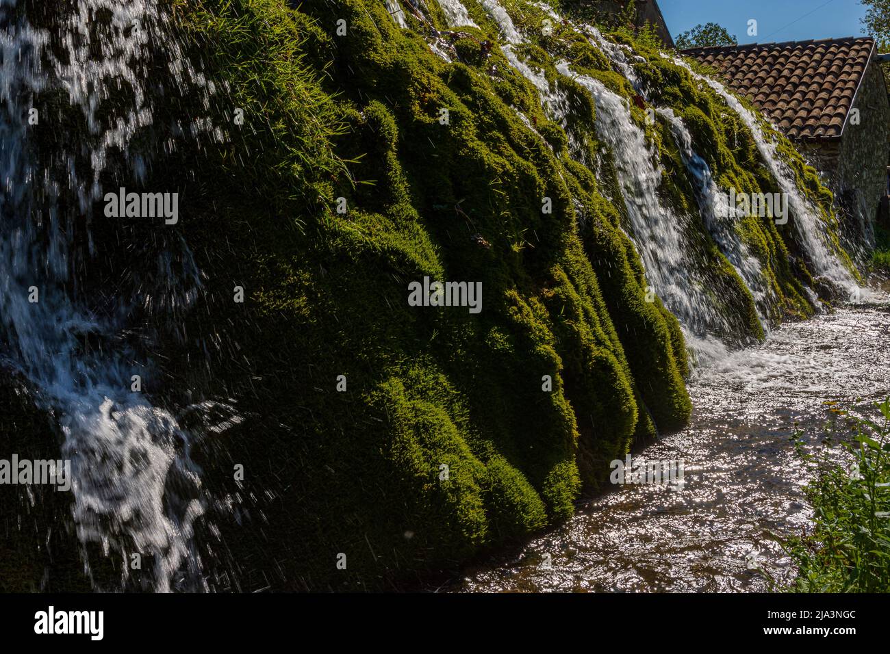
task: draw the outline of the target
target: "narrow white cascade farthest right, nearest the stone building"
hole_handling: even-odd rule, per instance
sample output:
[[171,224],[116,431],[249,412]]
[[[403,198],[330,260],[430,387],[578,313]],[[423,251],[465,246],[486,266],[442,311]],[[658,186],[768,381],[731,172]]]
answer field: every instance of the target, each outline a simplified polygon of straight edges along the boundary
[[[667,57],[667,55],[662,56]],[[773,178],[779,184],[781,192],[789,199],[789,209],[793,216],[792,220],[795,223],[797,237],[804,247],[810,262],[812,262],[814,273],[829,280],[832,286],[845,291],[847,294],[845,299],[859,298],[863,294],[868,295],[868,289],[862,289],[856,284],[850,271],[846,270],[841,262],[838,261],[837,255],[831,251],[822,239],[821,234],[825,231],[825,226],[820,212],[797,188],[794,173],[782,160],[777,151],[778,144],[771,139],[767,139],[763,126],[756,115],[742,105],[739,99],[717,80],[696,73],[689,64],[679,57],[672,57],[671,60],[677,66],[686,69],[692,77],[710,86],[726,101],[730,109],[738,114],[744,124],[748,125],[748,129],[754,135],[757,149],[767,169],[773,174]]]

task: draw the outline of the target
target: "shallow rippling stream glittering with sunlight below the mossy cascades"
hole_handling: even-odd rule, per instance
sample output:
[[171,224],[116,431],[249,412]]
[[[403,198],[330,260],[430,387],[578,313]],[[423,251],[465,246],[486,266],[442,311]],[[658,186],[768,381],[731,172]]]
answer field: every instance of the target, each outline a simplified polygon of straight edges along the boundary
[[838,408],[871,413],[890,395],[890,307],[841,309],[700,368],[683,432],[635,450],[682,460],[682,488],[616,486],[521,553],[465,570],[458,592],[764,591],[794,567],[777,535],[810,507],[790,439],[818,447]]

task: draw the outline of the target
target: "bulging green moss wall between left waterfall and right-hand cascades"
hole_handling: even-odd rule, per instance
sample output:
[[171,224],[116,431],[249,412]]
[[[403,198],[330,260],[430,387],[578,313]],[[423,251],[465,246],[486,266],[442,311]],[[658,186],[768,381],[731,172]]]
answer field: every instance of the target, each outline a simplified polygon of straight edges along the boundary
[[[253,185],[232,183],[238,166],[222,183],[207,181],[206,202],[196,198],[208,209],[214,198],[214,211],[185,228],[197,253],[239,230],[254,244],[227,256],[226,269],[239,270],[250,294],[243,309],[231,305],[232,276],[199,262],[210,270],[208,295],[218,297],[211,315],[240,311],[224,338],[244,353],[240,369],[226,369],[223,357],[205,381],[223,392],[244,385],[248,371],[262,378],[251,383],[262,399],[246,407],[251,418],[211,446],[208,479],[217,489],[231,485],[223,448],[232,463],[248,462],[252,488],[290,489],[262,511],[263,529],[276,534],[268,546],[288,561],[294,585],[301,569],[324,583],[378,585],[564,519],[582,484],[601,483],[608,461],[635,437],[684,424],[690,405],[676,320],[644,302],[633,246],[605,213],[593,177],[571,170],[564,141],[554,152],[511,109],[560,138],[500,52],[446,65],[382,6],[338,3],[333,14],[325,3],[303,4],[299,14],[275,7],[205,3],[190,9],[187,24],[216,44],[236,24],[258,39],[270,39],[265,21],[284,26],[265,43],[271,58],[309,35],[305,52],[318,69],[332,62],[322,84],[338,94],[329,110],[344,125],[332,141],[352,163],[348,175],[311,181],[314,206],[281,198],[282,210],[270,214]],[[347,21],[349,36],[336,36],[332,15]],[[232,60],[223,47],[220,74],[235,70]],[[501,72],[485,74],[491,66]],[[270,98],[248,75],[232,86],[247,117],[268,119],[294,101],[287,85],[271,87]],[[438,120],[441,108],[449,125]],[[280,198],[281,187],[303,181],[279,164],[288,144],[271,136],[257,139],[267,157],[258,166],[284,171],[271,189]],[[346,214],[333,210],[337,197],[346,198]],[[552,213],[542,212],[543,198]],[[590,237],[578,233],[573,198],[589,206]],[[586,253],[594,246],[615,269],[604,289]],[[424,276],[481,281],[483,311],[409,307],[408,284]],[[610,307],[621,312],[631,356]],[[340,374],[344,393],[335,390]],[[542,390],[545,375],[552,390]],[[280,481],[263,463],[271,442],[287,462]],[[283,523],[292,537],[283,538]],[[227,536],[249,542],[236,530],[241,536]],[[258,526],[247,531],[259,537]],[[349,567],[338,575],[340,552]]]

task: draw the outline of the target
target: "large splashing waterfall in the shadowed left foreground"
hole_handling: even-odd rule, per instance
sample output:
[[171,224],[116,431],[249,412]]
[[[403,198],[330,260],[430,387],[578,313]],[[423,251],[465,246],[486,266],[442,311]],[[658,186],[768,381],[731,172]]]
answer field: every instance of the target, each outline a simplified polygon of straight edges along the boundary
[[[61,9],[53,34],[61,36],[62,61],[50,46],[49,30],[32,27],[17,9],[15,0],[0,6],[3,362],[57,417],[61,455],[71,461],[73,518],[87,571],[86,545],[95,544],[106,554],[141,553],[153,561],[158,591],[171,590],[174,576],[199,587],[201,562],[192,535],[206,499],[190,459],[193,436],[168,410],[132,392],[132,375],[150,377],[152,367],[142,346],[129,344],[127,336],[138,307],[174,312],[194,303],[198,270],[187,248],[175,254],[175,264],[166,248],[157,271],[170,277],[154,286],[141,283],[144,295],[117,306],[100,302],[85,293],[78,272],[89,270],[93,253],[77,249],[76,223],[88,224],[109,166],[117,166],[116,177],[142,181],[152,153],[131,146],[155,127],[153,96],[160,85],[166,85],[167,100],[188,87],[205,109],[215,88],[191,67],[155,0],[81,0],[68,15]],[[166,78],[158,83],[150,82],[158,75],[157,68],[149,73],[155,63],[151,44],[163,44]],[[28,122],[31,109],[44,107],[46,92],[59,93],[70,107],[63,110],[79,113],[86,128],[84,141],[62,144],[65,149],[49,161],[31,147],[36,127]],[[122,94],[128,98],[124,109],[109,111],[106,104]],[[51,120],[44,115],[41,125]],[[174,135],[208,130],[206,120],[195,118],[177,125]],[[175,147],[167,134],[166,147]],[[92,250],[92,239],[90,244]],[[105,295],[115,295],[111,291]],[[126,576],[128,566],[122,569]]]

